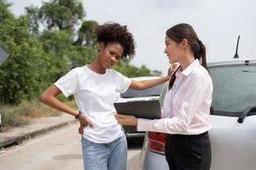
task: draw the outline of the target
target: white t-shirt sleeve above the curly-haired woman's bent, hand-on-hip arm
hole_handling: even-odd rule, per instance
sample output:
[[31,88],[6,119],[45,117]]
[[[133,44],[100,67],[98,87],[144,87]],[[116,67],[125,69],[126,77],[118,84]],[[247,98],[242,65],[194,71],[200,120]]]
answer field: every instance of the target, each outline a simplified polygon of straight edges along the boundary
[[79,75],[77,73],[77,69],[73,69],[67,72],[66,75],[61,77],[54,84],[57,88],[61,90],[62,94],[64,94],[65,97],[68,97],[76,93],[78,83],[79,83]]

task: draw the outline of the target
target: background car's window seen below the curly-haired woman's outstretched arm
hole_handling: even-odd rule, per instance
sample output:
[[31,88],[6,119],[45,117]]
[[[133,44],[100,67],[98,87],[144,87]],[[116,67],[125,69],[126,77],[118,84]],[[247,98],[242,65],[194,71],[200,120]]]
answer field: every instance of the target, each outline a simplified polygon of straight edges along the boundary
[[125,94],[121,94],[122,98],[137,98],[137,97],[147,97],[147,96],[160,96],[162,88],[166,83],[162,83],[153,88],[148,88],[145,90],[135,90],[129,88]]

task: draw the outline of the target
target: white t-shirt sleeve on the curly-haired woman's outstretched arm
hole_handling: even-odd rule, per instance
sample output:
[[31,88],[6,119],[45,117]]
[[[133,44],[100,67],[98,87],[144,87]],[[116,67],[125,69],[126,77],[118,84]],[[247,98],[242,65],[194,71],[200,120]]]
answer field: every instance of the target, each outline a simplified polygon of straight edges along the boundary
[[131,79],[123,76],[121,73],[115,71],[115,81],[117,86],[117,91],[119,93],[125,93],[125,91],[131,85]]

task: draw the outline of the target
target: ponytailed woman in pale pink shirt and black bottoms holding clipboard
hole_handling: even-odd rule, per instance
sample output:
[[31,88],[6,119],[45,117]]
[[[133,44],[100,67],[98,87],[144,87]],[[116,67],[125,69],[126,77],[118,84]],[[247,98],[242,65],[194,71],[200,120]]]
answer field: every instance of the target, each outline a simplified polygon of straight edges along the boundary
[[148,120],[117,114],[116,119],[122,125],[137,126],[138,131],[166,133],[170,169],[209,170],[212,79],[207,71],[206,48],[188,24],[168,29],[165,43],[170,63],[180,66],[169,82],[163,118]]

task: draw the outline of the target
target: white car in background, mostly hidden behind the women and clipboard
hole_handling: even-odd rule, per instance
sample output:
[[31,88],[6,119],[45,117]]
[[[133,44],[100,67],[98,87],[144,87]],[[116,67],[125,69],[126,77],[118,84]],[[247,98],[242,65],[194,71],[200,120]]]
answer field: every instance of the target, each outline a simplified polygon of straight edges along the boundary
[[[141,81],[155,79],[159,77],[134,77],[132,80]],[[149,100],[149,99],[159,99],[162,89],[166,86],[166,83],[162,83],[153,88],[148,88],[145,90],[135,90],[129,88],[125,94],[120,94],[119,100],[117,102],[125,101],[140,101],[140,100]],[[119,95],[119,94],[118,94]],[[133,137],[143,137],[144,132],[137,132],[136,127],[134,126],[124,126],[126,138]]]

